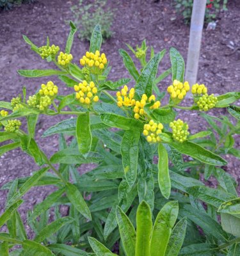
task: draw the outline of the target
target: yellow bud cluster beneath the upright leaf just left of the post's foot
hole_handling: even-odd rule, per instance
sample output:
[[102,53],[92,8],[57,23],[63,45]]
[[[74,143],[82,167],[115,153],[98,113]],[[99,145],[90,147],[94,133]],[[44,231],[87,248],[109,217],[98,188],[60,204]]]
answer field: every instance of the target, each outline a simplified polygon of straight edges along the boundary
[[173,81],[172,85],[168,86],[168,93],[170,94],[173,100],[184,99],[184,97],[186,96],[189,90],[190,90],[190,86],[188,82],[181,83],[176,79]]

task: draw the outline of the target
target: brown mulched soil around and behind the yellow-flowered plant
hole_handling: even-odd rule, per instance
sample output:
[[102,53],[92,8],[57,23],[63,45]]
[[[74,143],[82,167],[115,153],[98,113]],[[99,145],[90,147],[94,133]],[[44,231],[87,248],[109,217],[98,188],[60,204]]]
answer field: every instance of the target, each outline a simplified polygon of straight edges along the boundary
[[[65,20],[71,19],[70,6],[76,2],[39,0],[35,4],[22,5],[10,12],[0,13],[0,34],[2,35],[0,38],[0,80],[2,81],[0,100],[12,99],[21,93],[24,85],[28,90],[28,95],[31,95],[43,81],[48,81],[48,78],[27,79],[17,74],[18,69],[54,68],[29,49],[29,45],[22,40],[22,34],[27,35],[38,46],[44,45],[49,35],[51,44],[60,45],[63,49],[68,35],[68,25],[65,24]],[[122,0],[115,2],[109,1],[109,4],[116,8],[113,24],[115,35],[102,46],[113,67],[111,79],[129,77],[118,54],[118,49],[126,49],[125,43],[132,46],[141,44],[144,38],[147,39],[148,45],[154,46],[156,51],[164,48],[168,50],[171,46],[176,47],[186,60],[189,27],[184,24],[181,17],[175,14],[170,4],[171,1]],[[238,1],[229,1],[228,11],[220,13],[216,29],[213,31],[204,29],[198,79],[200,83],[209,86],[212,93],[239,91],[237,86],[239,85],[240,53],[227,46],[232,45],[235,49],[240,47],[239,12]],[[76,63],[87,49],[88,42],[81,42],[76,38],[72,49]],[[169,67],[169,56],[166,54],[159,72]],[[161,83],[161,90],[166,90],[170,79],[171,77],[168,77]],[[61,83],[58,84],[61,85]],[[60,93],[66,94],[66,91],[63,86],[60,88]],[[225,111],[212,113],[220,115]],[[182,118],[191,122],[191,132],[204,128],[205,123],[198,118],[196,113],[188,117],[182,115]],[[59,120],[60,117],[41,116],[36,127],[36,140],[49,156],[58,148],[58,136],[47,139],[40,138],[40,136],[45,129]],[[239,143],[239,138],[236,138],[238,148]],[[227,171],[240,180],[239,161],[230,156],[227,156],[227,160],[229,161]],[[16,177],[30,175],[34,170],[38,170],[38,166],[20,149],[8,152],[0,159],[0,186]],[[32,189],[31,193],[24,197],[26,202],[20,208],[21,214],[25,215],[26,211],[41,202],[50,191],[52,191],[51,187]],[[0,191],[0,212],[4,210],[5,198],[6,191]]]

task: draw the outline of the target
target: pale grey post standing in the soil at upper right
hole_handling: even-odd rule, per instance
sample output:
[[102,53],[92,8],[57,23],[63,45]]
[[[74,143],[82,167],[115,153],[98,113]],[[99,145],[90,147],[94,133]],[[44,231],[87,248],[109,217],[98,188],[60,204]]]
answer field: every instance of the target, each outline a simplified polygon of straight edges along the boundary
[[198,73],[198,61],[200,56],[206,3],[207,0],[193,1],[188,45],[188,60],[185,74],[185,81],[188,81],[190,86],[196,83],[196,76]]

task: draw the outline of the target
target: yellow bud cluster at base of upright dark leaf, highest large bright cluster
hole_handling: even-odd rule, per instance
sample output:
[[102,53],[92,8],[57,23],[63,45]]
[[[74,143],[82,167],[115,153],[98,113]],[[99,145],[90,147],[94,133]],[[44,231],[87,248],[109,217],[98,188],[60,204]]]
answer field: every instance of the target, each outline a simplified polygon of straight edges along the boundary
[[[94,71],[98,71],[99,69],[104,69],[107,63],[108,60],[106,58],[105,53],[100,54],[99,51],[95,51],[95,54],[93,52],[86,52],[83,58],[80,59],[80,64],[82,66],[86,65],[90,68],[93,67],[93,73]],[[97,68],[97,70],[94,70],[94,68]]]

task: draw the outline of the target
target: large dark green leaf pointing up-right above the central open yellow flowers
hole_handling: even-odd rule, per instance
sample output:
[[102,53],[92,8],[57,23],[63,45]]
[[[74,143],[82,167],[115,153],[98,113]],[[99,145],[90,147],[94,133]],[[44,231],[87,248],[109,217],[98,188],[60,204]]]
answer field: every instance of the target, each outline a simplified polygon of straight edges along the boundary
[[144,93],[147,97],[152,95],[152,84],[156,78],[159,61],[163,56],[163,52],[156,54],[152,60],[148,61],[147,65],[143,68],[138,80],[135,85],[135,99],[141,100],[141,95]]

